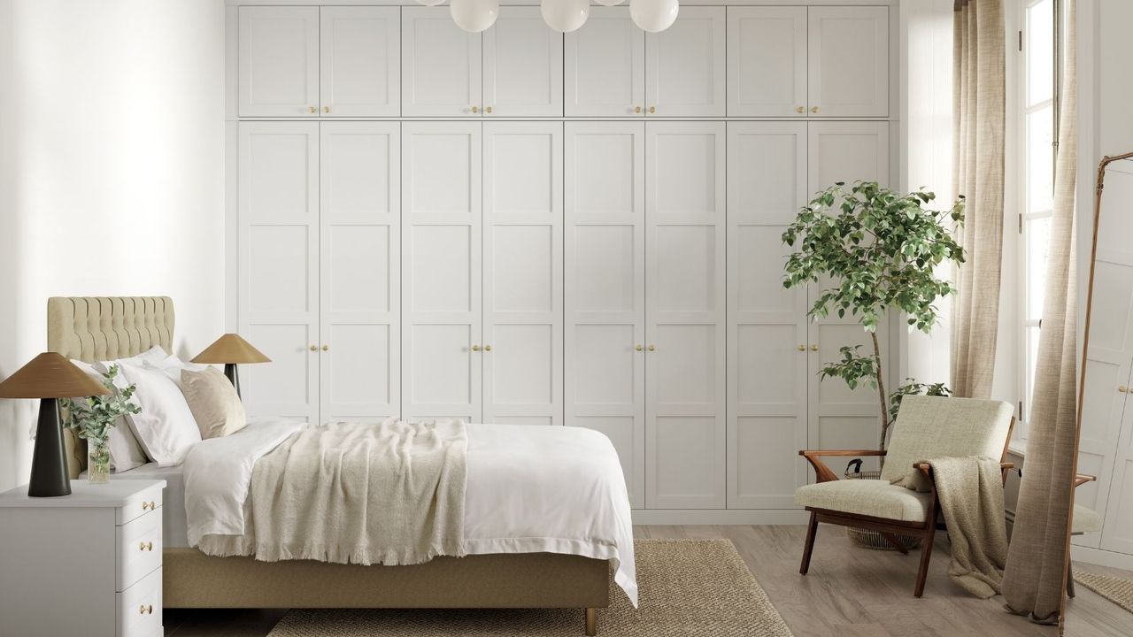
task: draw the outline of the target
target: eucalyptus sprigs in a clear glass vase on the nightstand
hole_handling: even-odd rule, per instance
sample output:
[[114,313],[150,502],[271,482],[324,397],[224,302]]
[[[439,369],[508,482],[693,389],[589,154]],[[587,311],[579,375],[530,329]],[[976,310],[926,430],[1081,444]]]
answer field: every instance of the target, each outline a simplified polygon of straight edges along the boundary
[[110,430],[126,414],[142,413],[142,408],[130,401],[136,387],[131,384],[118,389],[114,385],[117,376],[118,365],[111,365],[102,374],[102,384],[110,390],[107,396],[92,396],[85,400],[65,398],[59,401],[59,409],[65,414],[63,422],[75,435],[86,441],[86,475],[92,484],[110,482]]

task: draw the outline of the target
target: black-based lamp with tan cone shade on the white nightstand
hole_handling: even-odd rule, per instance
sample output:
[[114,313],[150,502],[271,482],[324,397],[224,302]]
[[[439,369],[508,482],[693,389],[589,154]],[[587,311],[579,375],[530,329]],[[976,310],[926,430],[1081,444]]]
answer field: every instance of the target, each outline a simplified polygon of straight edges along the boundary
[[35,427],[28,495],[57,498],[70,493],[58,399],[107,393],[110,390],[54,351],[36,356],[0,383],[0,398],[40,399],[40,422]]

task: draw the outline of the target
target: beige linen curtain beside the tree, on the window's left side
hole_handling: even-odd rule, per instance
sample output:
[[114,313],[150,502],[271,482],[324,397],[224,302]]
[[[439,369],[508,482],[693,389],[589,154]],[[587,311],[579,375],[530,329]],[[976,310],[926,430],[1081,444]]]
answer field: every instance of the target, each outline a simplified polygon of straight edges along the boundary
[[956,273],[951,387],[988,398],[995,372],[1003,256],[1005,35],[1003,0],[957,0],[953,18],[953,192],[966,199]]

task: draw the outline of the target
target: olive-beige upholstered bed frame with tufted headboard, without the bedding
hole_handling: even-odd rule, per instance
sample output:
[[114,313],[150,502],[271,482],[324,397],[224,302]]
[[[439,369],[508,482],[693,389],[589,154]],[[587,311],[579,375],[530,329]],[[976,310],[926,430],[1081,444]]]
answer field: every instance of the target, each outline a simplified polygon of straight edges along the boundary
[[[157,345],[172,351],[173,318],[169,297],[53,297],[48,349],[87,363]],[[73,478],[85,469],[85,443],[69,430],[67,461]],[[586,634],[595,635],[597,609],[610,604],[610,562],[578,554],[469,554],[397,567],[206,555],[184,541],[178,469],[147,465],[116,476],[160,476],[169,484],[162,506],[165,608],[576,608],[583,611]]]

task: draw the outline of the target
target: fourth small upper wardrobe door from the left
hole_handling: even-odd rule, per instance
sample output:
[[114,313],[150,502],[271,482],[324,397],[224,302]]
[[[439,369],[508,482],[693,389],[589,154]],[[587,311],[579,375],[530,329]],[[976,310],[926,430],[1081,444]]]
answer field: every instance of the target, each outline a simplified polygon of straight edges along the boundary
[[563,34],[538,7],[508,7],[484,32],[484,114],[562,117]]

